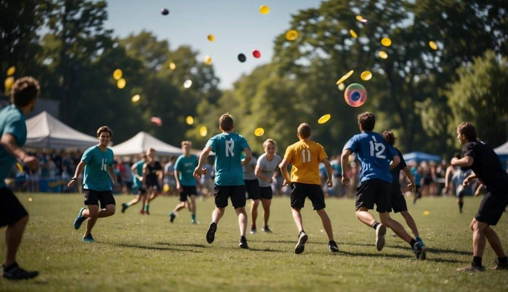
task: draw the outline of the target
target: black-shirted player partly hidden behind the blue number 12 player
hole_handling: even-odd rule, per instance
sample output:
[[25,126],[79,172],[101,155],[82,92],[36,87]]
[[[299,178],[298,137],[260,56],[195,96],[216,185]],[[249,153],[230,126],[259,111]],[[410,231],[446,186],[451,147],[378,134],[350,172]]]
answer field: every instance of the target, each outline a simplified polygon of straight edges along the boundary
[[[409,211],[407,211],[407,204],[406,199],[404,198],[404,195],[402,195],[402,192],[400,190],[400,181],[399,181],[399,174],[400,170],[404,170],[405,175],[407,178],[409,178],[409,184],[407,184],[407,188],[411,192],[415,192],[415,178],[412,176],[411,171],[409,171],[409,168],[407,168],[406,162],[404,161],[404,157],[402,156],[402,153],[395,148],[395,141],[397,138],[395,138],[395,134],[392,131],[384,131],[383,132],[383,138],[393,146],[393,149],[397,152],[397,155],[400,158],[400,163],[395,166],[395,168],[392,168],[390,170],[390,173],[392,174],[393,181],[392,181],[392,191],[390,192],[390,204],[391,208],[389,212],[391,212],[393,209],[394,213],[400,212],[402,217],[404,217],[404,220],[406,221],[407,226],[411,229],[412,233],[416,236],[416,241],[421,243],[421,246],[423,249],[426,248],[425,244],[423,243],[423,240],[420,238],[420,234],[418,233],[418,228],[416,227],[415,220],[409,214]],[[422,260],[425,260],[425,253],[422,254],[424,257]]]

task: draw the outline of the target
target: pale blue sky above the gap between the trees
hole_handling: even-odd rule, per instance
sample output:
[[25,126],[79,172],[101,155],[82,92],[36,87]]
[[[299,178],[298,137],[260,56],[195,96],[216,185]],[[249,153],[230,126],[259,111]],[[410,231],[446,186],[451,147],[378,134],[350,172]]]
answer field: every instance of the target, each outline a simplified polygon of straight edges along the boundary
[[[212,58],[219,87],[229,89],[242,75],[253,68],[270,62],[275,36],[290,29],[291,15],[301,9],[317,8],[321,0],[214,0],[214,1],[160,1],[110,0],[107,28],[114,35],[124,37],[141,30],[152,31],[158,40],[168,40],[170,49],[190,45]],[[270,13],[259,12],[261,5],[270,7]],[[170,14],[161,15],[167,8]],[[214,42],[206,38],[215,36]],[[261,58],[252,57],[252,50],[261,52]],[[247,61],[240,63],[237,55],[243,53]],[[178,65],[178,64],[177,64]]]

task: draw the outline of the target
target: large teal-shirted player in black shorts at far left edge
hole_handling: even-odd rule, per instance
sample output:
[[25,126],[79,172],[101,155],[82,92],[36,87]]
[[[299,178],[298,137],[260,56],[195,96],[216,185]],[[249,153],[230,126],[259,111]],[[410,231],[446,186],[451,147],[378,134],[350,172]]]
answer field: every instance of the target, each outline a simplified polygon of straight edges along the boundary
[[11,89],[12,104],[0,111],[0,227],[7,226],[6,257],[2,270],[3,277],[11,280],[39,275],[37,271],[21,269],[16,263],[16,252],[28,222],[28,212],[5,184],[16,159],[31,169],[39,168],[39,160],[21,149],[26,142],[25,115],[34,110],[39,91],[39,82],[34,78],[16,80]]

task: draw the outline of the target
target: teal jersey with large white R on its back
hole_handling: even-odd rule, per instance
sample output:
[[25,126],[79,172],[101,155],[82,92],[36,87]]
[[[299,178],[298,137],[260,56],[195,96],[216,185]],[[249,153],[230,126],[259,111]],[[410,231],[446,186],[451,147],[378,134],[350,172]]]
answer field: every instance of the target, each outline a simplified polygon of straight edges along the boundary
[[207,146],[215,152],[215,184],[242,186],[242,151],[249,148],[247,140],[237,133],[221,133],[208,140]]

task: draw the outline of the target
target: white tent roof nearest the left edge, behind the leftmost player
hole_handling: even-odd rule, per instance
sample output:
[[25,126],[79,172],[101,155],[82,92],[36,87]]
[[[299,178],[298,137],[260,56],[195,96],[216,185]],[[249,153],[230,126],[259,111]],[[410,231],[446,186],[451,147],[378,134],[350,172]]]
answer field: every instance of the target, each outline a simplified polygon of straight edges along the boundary
[[25,146],[34,148],[88,148],[98,144],[96,137],[83,134],[47,112],[26,120]]

